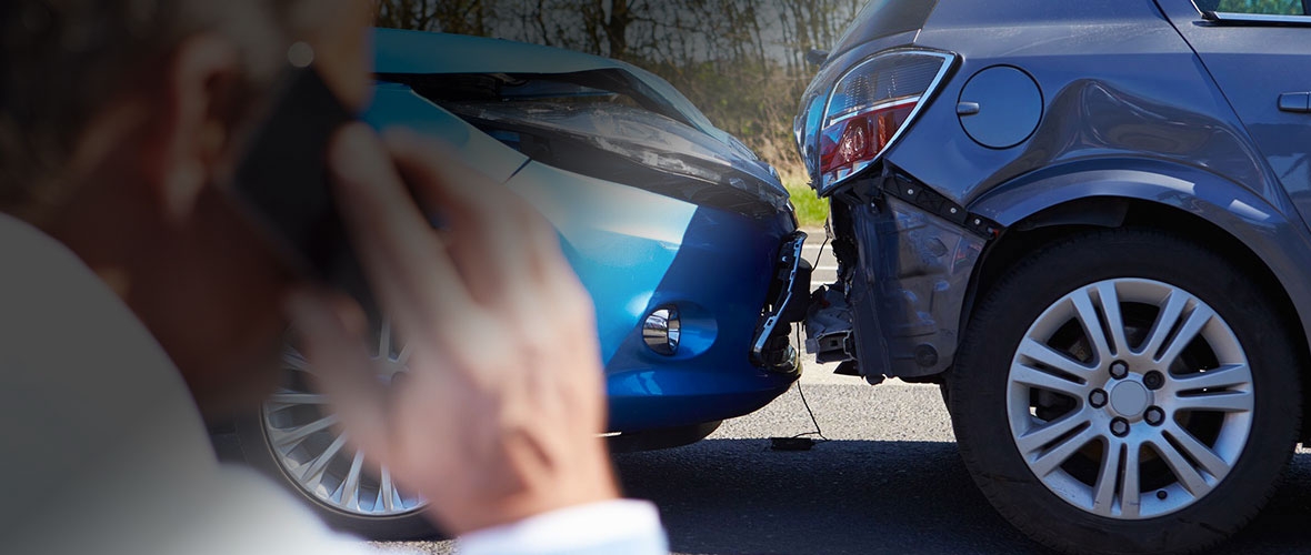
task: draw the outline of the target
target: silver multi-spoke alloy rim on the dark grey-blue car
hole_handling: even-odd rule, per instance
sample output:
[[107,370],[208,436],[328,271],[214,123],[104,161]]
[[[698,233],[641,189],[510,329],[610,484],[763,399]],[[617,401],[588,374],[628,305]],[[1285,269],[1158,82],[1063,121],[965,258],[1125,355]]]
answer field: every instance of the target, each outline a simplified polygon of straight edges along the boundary
[[[1109,336],[1108,336],[1109,335]],[[1247,445],[1252,372],[1234,330],[1165,283],[1112,279],[1049,306],[1011,361],[1020,456],[1089,513],[1159,517],[1192,505]]]

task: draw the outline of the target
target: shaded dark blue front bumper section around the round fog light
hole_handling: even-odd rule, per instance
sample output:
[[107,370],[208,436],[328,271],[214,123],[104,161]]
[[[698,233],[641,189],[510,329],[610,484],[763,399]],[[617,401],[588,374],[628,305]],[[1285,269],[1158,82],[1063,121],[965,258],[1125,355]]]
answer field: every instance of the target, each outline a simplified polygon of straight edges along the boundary
[[[779,279],[780,247],[791,219],[753,220],[700,207],[656,288],[645,315],[678,306],[682,342],[673,356],[648,348],[633,329],[607,363],[610,427],[637,432],[691,425],[753,412],[792,385],[791,370],[753,363],[762,309]],[[809,279],[800,285],[809,287]],[[805,302],[798,300],[797,302]],[[789,326],[780,323],[777,334]]]

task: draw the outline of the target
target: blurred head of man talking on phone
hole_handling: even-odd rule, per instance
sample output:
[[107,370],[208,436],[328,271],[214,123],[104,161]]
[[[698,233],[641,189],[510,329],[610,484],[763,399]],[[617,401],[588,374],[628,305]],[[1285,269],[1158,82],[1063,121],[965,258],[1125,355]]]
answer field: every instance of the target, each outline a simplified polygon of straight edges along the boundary
[[364,102],[371,13],[366,0],[0,3],[0,211],[100,274],[202,408],[271,376],[294,285],[218,175],[292,45]]

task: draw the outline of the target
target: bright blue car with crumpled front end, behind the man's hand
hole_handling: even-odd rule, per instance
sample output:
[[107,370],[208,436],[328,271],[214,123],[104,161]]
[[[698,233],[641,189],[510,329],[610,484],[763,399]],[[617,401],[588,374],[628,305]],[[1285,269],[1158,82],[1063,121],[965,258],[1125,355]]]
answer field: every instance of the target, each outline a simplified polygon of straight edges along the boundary
[[[444,139],[558,232],[597,306],[615,448],[697,441],[796,381],[809,266],[788,194],[666,81],[484,38],[379,30],[375,48],[366,120]],[[379,372],[404,372],[404,342],[375,329]],[[338,528],[430,534],[425,501],[346,445],[294,342],[284,360],[282,389],[236,424],[240,454]]]

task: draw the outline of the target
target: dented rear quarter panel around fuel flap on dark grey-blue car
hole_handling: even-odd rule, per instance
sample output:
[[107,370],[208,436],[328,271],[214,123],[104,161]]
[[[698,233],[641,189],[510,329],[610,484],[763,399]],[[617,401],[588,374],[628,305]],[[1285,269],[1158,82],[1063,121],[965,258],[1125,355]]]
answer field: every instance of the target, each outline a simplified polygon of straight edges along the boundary
[[[962,206],[1038,168],[1142,153],[1223,166],[1262,196],[1277,190],[1242,122],[1151,3],[1024,0],[983,8],[945,0],[920,33],[916,46],[956,51],[962,62],[916,126],[960,128],[956,101],[968,77],[1006,64],[1037,81],[1045,101],[1038,130],[1007,149],[958,132],[907,134],[886,154],[893,165]],[[1050,25],[1042,25],[1045,17]]]

